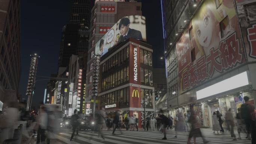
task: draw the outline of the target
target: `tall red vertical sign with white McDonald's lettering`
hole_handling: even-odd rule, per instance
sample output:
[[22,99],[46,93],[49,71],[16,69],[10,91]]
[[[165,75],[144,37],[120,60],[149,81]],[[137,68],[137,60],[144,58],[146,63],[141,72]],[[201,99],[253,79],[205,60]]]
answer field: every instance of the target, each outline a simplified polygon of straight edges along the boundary
[[129,45],[129,81],[140,85],[140,47]]

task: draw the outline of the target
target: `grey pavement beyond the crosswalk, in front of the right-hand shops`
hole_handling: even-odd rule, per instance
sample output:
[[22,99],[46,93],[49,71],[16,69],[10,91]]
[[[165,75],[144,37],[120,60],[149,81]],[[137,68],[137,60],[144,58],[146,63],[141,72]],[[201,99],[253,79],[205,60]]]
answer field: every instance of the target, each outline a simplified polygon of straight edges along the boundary
[[[144,131],[144,129],[140,128],[139,131]],[[228,131],[228,130],[225,129],[225,128],[224,128],[224,131],[225,131],[224,134],[221,134],[220,131],[219,131],[219,134],[217,134],[217,131],[215,131],[215,134],[214,134],[213,131],[212,131],[212,128],[201,128],[201,132],[202,132],[202,135],[203,135],[204,137],[233,139],[233,138],[231,137],[230,131]],[[160,133],[160,131],[151,131],[151,129],[150,129],[150,132]],[[237,138],[238,138],[237,129],[234,129],[234,133],[235,133],[235,135],[236,135]],[[167,129],[167,135],[168,135],[168,134],[175,135],[174,128],[173,128],[173,129]],[[179,135],[189,135],[189,132],[178,132],[178,137],[179,137]],[[246,134],[241,133],[241,138],[242,138],[243,140],[245,140],[245,139],[246,139]]]

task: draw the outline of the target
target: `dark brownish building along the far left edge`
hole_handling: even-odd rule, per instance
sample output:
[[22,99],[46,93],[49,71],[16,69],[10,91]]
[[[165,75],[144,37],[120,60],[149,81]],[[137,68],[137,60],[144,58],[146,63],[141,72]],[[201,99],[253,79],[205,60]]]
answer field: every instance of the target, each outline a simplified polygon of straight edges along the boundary
[[20,0],[0,1],[0,103],[17,101],[21,76]]

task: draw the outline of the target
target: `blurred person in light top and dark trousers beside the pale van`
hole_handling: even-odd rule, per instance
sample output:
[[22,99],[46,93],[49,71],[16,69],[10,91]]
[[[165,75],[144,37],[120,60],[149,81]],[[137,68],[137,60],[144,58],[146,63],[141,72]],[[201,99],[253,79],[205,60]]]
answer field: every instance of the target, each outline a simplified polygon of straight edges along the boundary
[[39,123],[39,129],[37,132],[37,144],[39,143],[45,143],[46,140],[46,129],[47,129],[47,125],[48,125],[48,114],[47,114],[47,110],[46,107],[44,105],[42,105],[40,107],[40,111],[39,111],[39,117],[38,117],[38,123]]

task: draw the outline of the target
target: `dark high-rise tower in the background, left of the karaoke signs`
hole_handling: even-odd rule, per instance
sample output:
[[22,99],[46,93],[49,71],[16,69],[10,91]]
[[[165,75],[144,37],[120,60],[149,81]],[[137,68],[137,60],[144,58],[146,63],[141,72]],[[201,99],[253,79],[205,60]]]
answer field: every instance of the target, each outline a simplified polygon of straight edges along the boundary
[[89,45],[89,26],[94,0],[73,0],[69,24],[61,34],[59,67],[68,67],[71,55],[86,52]]

